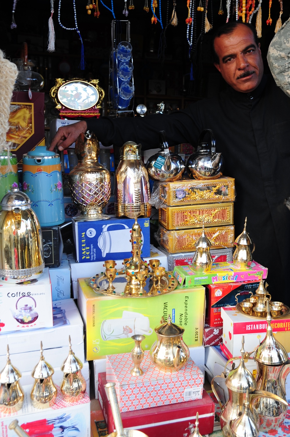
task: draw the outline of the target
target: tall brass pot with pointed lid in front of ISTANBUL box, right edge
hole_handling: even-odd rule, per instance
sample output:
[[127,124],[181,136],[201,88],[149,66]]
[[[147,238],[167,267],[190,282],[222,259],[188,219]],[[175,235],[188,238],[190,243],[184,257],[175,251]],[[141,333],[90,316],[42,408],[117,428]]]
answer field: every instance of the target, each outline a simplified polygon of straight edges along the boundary
[[257,363],[257,388],[267,390],[279,396],[283,402],[276,399],[255,400],[255,410],[259,414],[260,431],[267,433],[270,429],[279,429],[288,409],[286,402],[285,382],[290,372],[290,359],[281,343],[273,336],[269,301],[267,308],[267,333],[265,339],[255,351],[254,360]]

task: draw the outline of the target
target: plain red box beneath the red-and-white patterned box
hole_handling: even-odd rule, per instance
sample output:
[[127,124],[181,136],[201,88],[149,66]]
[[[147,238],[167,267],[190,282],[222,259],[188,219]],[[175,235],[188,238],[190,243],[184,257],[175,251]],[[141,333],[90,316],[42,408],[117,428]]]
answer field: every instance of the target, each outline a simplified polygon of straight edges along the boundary
[[[114,432],[114,420],[104,387],[106,383],[106,373],[99,373],[99,402],[110,434]],[[125,429],[142,431],[148,437],[188,437],[193,432],[197,412],[200,434],[211,434],[214,429],[214,402],[205,390],[202,399],[128,411],[121,413],[121,419]]]

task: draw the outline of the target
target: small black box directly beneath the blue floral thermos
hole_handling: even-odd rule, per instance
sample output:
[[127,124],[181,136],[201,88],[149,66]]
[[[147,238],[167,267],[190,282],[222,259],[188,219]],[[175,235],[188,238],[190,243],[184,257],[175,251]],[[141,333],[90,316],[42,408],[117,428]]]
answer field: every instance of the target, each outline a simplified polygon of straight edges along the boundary
[[45,267],[59,267],[62,261],[63,243],[59,226],[41,228]]

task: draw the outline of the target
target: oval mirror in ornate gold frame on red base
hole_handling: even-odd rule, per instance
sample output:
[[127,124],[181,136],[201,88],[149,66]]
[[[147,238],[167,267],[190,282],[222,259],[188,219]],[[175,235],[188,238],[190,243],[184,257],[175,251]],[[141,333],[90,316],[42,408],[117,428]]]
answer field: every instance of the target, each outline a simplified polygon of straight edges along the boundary
[[50,90],[60,118],[100,117],[104,95],[97,79],[55,79],[55,86]]

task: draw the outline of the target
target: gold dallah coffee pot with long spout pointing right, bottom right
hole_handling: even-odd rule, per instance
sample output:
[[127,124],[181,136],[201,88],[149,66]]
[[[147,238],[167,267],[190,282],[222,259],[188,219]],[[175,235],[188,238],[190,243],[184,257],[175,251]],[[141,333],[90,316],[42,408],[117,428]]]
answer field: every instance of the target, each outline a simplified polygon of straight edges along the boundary
[[[229,371],[228,375],[224,371],[221,375],[215,376],[211,381],[211,388],[214,392],[215,397],[217,398],[218,403],[221,407],[221,415],[220,415],[220,423],[221,429],[226,437],[231,436],[231,423],[236,420],[244,411],[245,408],[245,400],[247,391],[249,391],[249,408],[251,409],[252,415],[254,417],[257,428],[259,429],[260,421],[259,416],[255,412],[253,408],[253,401],[256,398],[266,398],[266,402],[269,401],[271,397],[275,402],[278,400],[283,401],[284,404],[288,405],[286,401],[280,398],[277,395],[273,395],[273,393],[266,392],[264,390],[256,390],[257,383],[255,381],[254,375],[245,367],[245,350],[244,350],[244,336],[242,337],[242,349],[241,349],[241,360],[240,364],[237,368]],[[249,355],[246,355],[249,358]],[[238,357],[231,358],[228,363],[231,361],[237,360]],[[214,387],[215,378],[223,378],[225,379],[225,385],[228,388],[228,401],[224,404],[221,403],[221,399],[217,395],[216,389]]]

